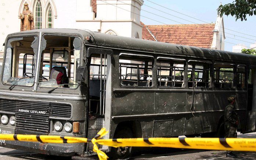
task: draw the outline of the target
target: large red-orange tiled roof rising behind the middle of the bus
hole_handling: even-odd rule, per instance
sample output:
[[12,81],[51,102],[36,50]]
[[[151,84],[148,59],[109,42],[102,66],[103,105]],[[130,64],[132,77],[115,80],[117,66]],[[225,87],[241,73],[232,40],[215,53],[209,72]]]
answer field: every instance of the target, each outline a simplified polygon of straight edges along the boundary
[[[210,48],[213,40],[215,24],[195,25],[148,25],[147,29],[154,35],[157,41]],[[142,37],[147,38],[148,33]]]

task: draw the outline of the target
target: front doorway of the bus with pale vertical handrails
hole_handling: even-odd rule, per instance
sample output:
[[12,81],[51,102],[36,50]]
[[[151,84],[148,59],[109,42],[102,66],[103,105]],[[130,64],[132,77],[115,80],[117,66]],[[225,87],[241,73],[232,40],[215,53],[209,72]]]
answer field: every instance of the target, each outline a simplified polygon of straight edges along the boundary
[[[110,130],[111,112],[111,55],[101,54],[103,49],[93,50],[89,59],[89,120],[88,137],[94,137],[101,128]],[[108,50],[112,52],[112,50]],[[105,136],[108,138],[109,135]],[[108,147],[102,148],[108,149]],[[87,152],[93,150],[93,145],[87,146]]]

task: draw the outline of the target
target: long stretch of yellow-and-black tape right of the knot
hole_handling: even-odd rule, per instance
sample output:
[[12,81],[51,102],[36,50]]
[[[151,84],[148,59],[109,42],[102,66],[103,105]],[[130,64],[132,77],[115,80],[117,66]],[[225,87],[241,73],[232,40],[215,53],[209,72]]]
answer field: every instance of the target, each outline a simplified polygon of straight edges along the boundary
[[168,147],[256,152],[255,138],[129,138],[99,139],[97,143],[112,147]]

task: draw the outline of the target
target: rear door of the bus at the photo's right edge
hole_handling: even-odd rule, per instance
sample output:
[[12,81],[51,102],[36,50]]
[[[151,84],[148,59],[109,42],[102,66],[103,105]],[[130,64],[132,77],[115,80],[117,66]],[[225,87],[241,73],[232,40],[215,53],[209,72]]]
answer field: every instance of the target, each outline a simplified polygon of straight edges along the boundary
[[256,66],[248,69],[246,128],[243,133],[255,132],[256,128]]

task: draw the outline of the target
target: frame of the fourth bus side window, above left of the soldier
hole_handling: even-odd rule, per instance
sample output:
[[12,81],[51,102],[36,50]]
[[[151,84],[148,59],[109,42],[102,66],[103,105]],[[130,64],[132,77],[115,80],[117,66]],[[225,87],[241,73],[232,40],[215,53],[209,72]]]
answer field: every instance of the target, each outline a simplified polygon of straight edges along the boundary
[[[215,68],[214,68],[214,66],[215,66],[215,64],[220,64],[220,65],[232,65],[233,66],[233,87],[230,87],[230,88],[216,88],[215,87],[215,82],[214,82],[214,80],[215,80],[215,77],[214,77],[214,75],[215,75]],[[220,74],[220,73],[219,73]],[[236,80],[236,77],[237,77],[237,64],[234,62],[234,63],[231,63],[231,62],[220,62],[220,61],[214,61],[214,63],[213,63],[213,86],[214,86],[214,89],[215,90],[235,90],[236,89],[236,87],[237,87],[237,80]]]

